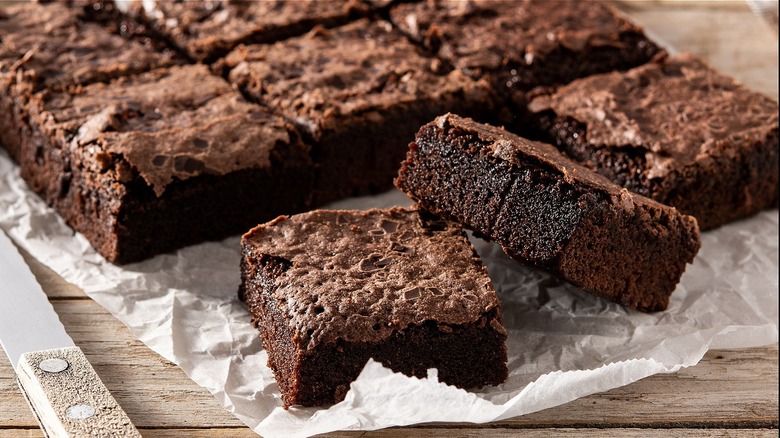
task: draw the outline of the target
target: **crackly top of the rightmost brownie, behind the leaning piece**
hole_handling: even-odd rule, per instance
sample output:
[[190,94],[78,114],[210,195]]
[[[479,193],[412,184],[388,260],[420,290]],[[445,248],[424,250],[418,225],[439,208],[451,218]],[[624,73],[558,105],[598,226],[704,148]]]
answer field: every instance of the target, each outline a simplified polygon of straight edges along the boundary
[[776,102],[690,54],[580,79],[530,108],[583,123],[594,146],[646,151],[651,178],[778,129]]

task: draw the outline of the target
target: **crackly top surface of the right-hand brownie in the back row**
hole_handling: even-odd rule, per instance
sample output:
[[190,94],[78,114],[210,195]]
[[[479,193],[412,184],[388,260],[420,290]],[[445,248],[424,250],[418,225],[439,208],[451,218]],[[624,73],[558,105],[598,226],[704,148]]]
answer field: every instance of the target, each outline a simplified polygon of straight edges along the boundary
[[623,45],[641,30],[593,1],[428,0],[391,10],[391,20],[415,40],[462,69],[531,65],[559,48]]

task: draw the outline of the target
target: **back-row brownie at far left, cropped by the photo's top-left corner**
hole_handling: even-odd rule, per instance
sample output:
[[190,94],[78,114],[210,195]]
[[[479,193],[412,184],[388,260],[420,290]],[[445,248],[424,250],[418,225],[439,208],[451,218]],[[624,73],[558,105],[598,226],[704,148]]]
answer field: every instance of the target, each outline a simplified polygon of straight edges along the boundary
[[26,106],[40,90],[105,82],[172,59],[79,20],[59,3],[0,9],[0,143],[19,157]]

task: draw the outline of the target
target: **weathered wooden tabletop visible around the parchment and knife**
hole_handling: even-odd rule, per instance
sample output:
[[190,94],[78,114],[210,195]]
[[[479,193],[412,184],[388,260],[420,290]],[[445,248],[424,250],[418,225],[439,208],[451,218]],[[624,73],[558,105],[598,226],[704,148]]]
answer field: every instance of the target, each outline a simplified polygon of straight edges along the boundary
[[[654,35],[777,99],[777,36],[742,3],[624,2]],[[78,288],[27,256],[66,330],[144,436],[254,436],[203,388]],[[766,291],[775,293],[777,291]],[[710,351],[695,367],[487,425],[433,424],[361,436],[777,436],[777,345]],[[335,433],[331,436],[356,436]],[[42,436],[0,355],[0,438]]]

